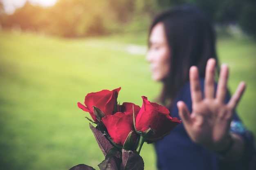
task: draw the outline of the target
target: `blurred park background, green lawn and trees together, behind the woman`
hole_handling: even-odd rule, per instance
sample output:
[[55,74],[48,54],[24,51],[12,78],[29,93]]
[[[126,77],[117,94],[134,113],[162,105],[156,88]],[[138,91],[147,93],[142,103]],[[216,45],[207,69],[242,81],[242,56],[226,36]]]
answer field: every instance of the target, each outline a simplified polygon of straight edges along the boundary
[[[26,2],[12,13],[0,0],[0,167],[4,170],[98,169],[104,157],[77,107],[87,93],[121,86],[118,101],[153,101],[161,84],[145,60],[148,27],[177,4],[200,7],[216,26],[229,89],[247,83],[237,107],[256,135],[256,9],[252,0],[58,0]],[[175,147],[175,146],[173,146]],[[145,170],[155,170],[144,144]]]

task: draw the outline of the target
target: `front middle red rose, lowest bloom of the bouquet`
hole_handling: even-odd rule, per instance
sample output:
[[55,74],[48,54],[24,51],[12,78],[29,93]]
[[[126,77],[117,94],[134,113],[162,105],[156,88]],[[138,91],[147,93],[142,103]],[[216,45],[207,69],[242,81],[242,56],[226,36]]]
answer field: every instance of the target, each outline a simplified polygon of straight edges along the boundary
[[133,141],[136,142],[137,135],[133,126],[132,113],[117,112],[114,115],[104,116],[101,121],[106,126],[108,134],[117,145],[124,145],[130,131],[133,131]]

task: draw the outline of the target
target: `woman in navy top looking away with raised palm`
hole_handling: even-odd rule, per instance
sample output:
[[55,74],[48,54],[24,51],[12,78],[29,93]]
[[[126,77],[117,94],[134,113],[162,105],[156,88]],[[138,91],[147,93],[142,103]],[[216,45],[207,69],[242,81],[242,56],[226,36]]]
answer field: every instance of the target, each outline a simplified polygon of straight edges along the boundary
[[[182,124],[155,143],[160,170],[240,170],[249,166],[253,137],[234,113],[241,82],[230,98],[228,67],[220,69],[214,30],[202,11],[177,7],[158,15],[150,27],[152,78],[163,83],[159,102]],[[190,79],[190,82],[189,82]],[[202,88],[202,91],[201,91]],[[191,113],[191,114],[190,114]]]

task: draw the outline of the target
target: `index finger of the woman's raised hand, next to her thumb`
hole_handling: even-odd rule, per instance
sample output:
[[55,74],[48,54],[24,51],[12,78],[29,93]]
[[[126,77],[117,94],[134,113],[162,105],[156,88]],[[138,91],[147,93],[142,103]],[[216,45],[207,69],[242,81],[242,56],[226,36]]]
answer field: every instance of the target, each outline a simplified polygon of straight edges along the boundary
[[198,76],[198,68],[196,66],[190,68],[189,79],[192,102],[199,102],[202,100],[202,92]]

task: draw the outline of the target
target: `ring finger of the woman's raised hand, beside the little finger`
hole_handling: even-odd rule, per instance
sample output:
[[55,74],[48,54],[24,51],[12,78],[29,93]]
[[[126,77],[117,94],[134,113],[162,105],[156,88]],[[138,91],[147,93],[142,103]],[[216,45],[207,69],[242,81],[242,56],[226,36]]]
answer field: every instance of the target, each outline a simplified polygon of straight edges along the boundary
[[220,77],[216,91],[216,99],[218,99],[220,102],[225,102],[228,75],[229,67],[227,66],[227,64],[222,64],[220,68]]

